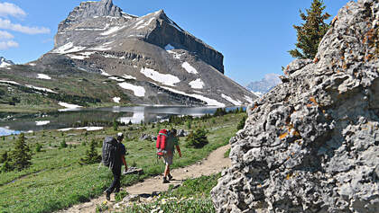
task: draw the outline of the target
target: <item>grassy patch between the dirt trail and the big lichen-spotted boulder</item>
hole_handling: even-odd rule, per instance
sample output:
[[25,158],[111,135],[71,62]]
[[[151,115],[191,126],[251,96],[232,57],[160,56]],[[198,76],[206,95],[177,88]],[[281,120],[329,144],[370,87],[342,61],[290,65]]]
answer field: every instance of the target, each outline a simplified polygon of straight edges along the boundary
[[150,203],[134,203],[123,209],[124,212],[216,212],[210,191],[217,185],[220,174],[189,179],[175,190],[163,192]]

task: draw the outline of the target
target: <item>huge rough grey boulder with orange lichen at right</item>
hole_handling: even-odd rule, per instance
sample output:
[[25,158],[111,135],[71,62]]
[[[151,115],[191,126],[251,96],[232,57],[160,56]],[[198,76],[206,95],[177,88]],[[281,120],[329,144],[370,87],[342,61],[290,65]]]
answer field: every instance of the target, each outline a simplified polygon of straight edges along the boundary
[[379,212],[379,2],[338,12],[317,57],[249,108],[217,212]]

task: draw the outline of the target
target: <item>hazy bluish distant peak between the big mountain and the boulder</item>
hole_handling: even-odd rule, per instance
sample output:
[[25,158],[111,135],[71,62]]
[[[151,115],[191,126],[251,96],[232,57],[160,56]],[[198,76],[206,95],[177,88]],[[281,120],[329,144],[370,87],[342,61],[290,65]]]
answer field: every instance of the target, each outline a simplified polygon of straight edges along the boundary
[[260,81],[254,81],[246,85],[246,88],[257,96],[268,93],[275,85],[282,83],[278,74],[267,74]]

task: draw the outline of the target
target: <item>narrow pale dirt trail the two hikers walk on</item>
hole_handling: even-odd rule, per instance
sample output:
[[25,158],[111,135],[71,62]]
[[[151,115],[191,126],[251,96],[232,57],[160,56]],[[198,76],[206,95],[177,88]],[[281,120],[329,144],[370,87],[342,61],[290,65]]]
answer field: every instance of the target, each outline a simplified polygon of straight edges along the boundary
[[[222,146],[217,148],[217,150],[213,151],[207,158],[203,159],[201,162],[197,164],[192,164],[186,166],[184,168],[174,169],[171,171],[171,174],[174,178],[170,184],[180,185],[186,179],[189,178],[197,178],[201,175],[210,175],[214,173],[220,173],[224,168],[230,166],[230,159],[228,157],[224,157],[227,149],[230,148],[230,145]],[[174,160],[178,155],[174,156]],[[123,188],[122,191],[127,191],[132,195],[139,194],[152,194],[153,192],[158,191],[167,191],[169,189],[170,184],[162,183],[162,175],[152,177],[144,180],[143,182],[136,183],[132,186]],[[100,205],[106,200],[106,197],[100,196],[97,199],[90,200],[86,203],[81,203],[75,205],[66,210],[60,210],[58,213],[92,213],[96,212],[97,205]],[[116,204],[114,194],[111,195],[111,205]]]

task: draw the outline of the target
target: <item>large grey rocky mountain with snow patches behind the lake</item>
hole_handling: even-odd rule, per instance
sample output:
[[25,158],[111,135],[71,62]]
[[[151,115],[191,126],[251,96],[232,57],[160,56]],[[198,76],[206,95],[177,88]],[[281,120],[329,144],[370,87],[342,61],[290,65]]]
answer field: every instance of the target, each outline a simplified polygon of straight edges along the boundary
[[223,75],[221,53],[162,10],[137,17],[112,0],[84,2],[60,22],[54,40],[34,68],[113,75],[134,103],[226,106],[256,98]]

